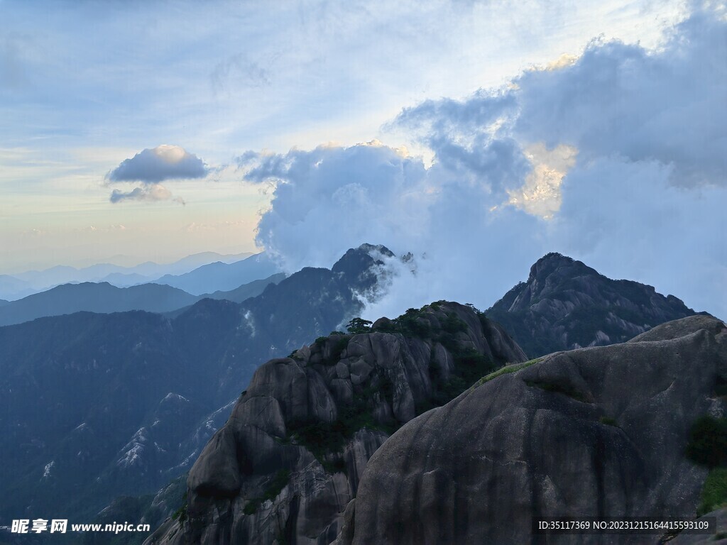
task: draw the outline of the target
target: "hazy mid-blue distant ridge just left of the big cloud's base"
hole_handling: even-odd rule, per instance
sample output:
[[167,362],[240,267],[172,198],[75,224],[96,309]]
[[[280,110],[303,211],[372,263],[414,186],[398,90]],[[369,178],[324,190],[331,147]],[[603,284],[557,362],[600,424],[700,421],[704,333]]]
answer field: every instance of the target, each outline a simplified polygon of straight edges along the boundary
[[276,273],[280,273],[278,266],[262,253],[234,263],[210,263],[183,275],[164,275],[154,282],[201,295],[211,291],[230,291],[241,284]]

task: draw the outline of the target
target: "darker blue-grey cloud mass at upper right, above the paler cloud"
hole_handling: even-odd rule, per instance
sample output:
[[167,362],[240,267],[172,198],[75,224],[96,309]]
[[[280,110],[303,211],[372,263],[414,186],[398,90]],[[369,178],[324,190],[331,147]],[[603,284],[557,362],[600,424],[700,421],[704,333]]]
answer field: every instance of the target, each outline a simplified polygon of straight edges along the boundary
[[597,40],[561,69],[523,73],[513,134],[573,146],[584,161],[671,164],[676,185],[727,185],[726,29],[697,11],[659,51]]

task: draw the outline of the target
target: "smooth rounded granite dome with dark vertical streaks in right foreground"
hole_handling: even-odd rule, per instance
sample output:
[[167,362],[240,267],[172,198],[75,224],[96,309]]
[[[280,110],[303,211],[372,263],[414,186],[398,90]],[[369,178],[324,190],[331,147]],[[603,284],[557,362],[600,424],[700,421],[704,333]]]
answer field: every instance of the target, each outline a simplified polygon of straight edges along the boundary
[[724,323],[692,316],[529,364],[395,432],[369,460],[337,544],[655,543],[546,541],[531,523],[695,516],[707,469],[684,451],[699,416],[725,416],[715,394],[727,376]]

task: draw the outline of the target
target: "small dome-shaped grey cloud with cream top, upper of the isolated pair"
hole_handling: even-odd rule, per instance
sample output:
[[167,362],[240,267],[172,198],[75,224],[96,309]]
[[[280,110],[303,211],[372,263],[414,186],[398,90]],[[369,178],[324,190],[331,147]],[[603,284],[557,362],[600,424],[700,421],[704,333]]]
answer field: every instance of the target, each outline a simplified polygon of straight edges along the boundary
[[207,174],[209,169],[193,153],[179,146],[160,145],[122,161],[106,175],[106,179],[109,182],[158,184],[165,179],[204,178]]

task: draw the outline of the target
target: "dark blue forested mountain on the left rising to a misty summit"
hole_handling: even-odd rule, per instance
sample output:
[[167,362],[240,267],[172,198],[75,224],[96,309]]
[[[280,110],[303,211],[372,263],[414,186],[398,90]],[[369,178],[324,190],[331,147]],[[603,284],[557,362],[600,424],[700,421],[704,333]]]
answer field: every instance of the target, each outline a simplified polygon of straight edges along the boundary
[[361,312],[371,254],[174,318],[76,312],[0,327],[0,520],[90,520],[188,471],[257,366]]

